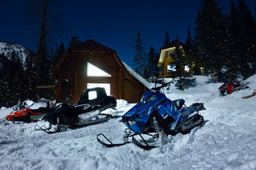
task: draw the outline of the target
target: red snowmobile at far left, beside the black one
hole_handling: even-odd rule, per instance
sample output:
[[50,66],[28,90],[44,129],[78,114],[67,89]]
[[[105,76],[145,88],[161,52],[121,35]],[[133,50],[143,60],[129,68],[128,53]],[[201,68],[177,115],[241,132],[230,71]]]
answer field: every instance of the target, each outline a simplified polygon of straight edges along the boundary
[[31,123],[36,122],[38,120],[41,120],[44,115],[47,113],[50,113],[51,111],[54,111],[54,103],[52,101],[48,101],[45,98],[41,98],[41,100],[34,102],[26,108],[26,106],[23,107],[23,109],[14,111],[10,113],[9,115],[6,115],[6,120],[1,120],[1,123],[4,125],[9,124],[8,121],[11,122],[23,122],[23,123]]

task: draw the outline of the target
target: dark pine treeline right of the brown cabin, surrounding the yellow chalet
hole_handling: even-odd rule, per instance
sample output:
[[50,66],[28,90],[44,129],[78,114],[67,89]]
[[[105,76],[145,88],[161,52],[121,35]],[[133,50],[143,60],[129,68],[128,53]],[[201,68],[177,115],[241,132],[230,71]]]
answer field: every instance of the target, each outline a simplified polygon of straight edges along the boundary
[[[230,1],[230,14],[222,13],[215,0],[203,0],[194,21],[193,37],[188,28],[186,57],[182,57],[183,53],[176,48],[175,62],[170,64],[181,69],[187,65],[193,74],[212,74],[218,81],[240,75],[247,79],[256,72],[255,20],[244,0],[238,0],[237,6]],[[142,33],[138,32],[136,36],[134,69],[146,79],[158,77],[159,68],[151,65],[157,66],[159,54],[153,47],[146,54]],[[169,37],[166,30],[163,46],[171,42]],[[180,43],[178,35],[177,43]],[[184,69],[177,72],[178,69],[170,71],[170,77],[185,75]]]

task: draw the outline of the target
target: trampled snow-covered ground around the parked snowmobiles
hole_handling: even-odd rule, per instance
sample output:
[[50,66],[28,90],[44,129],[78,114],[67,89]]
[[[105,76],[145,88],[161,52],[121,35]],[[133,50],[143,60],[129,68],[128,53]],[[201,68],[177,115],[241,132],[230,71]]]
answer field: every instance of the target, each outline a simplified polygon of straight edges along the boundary
[[[45,122],[0,125],[0,169],[256,169],[256,74],[243,89],[220,97],[221,83],[195,77],[195,85],[178,91],[173,84],[166,96],[183,98],[186,105],[203,102],[206,124],[187,135],[168,136],[168,143],[149,151],[134,144],[107,148],[97,142],[99,133],[122,141],[126,128],[118,120],[134,106],[119,100],[114,118],[105,123],[71,128],[55,134],[35,131]],[[11,112],[2,108],[0,117]]]

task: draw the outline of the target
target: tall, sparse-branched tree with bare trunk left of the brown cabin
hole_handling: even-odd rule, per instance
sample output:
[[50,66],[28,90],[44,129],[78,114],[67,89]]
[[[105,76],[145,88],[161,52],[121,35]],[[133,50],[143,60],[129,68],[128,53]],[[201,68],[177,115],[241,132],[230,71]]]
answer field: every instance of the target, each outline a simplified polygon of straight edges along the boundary
[[[37,81],[36,86],[43,86],[43,70],[45,69],[43,64],[48,55],[48,45],[53,40],[55,35],[60,35],[60,15],[57,8],[55,8],[55,1],[41,0],[41,1],[28,1],[28,14],[30,14],[31,30],[36,30],[36,36],[38,37],[38,47],[36,52],[36,74]],[[39,28],[39,29],[38,29]],[[38,98],[41,97],[41,90],[37,89]]]

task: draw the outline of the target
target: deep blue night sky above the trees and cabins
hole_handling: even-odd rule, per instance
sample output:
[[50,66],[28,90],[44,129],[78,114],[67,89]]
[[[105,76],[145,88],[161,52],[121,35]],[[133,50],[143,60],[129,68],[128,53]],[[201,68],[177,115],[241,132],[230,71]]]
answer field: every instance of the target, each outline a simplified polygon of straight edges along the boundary
[[[238,0],[234,0],[238,4]],[[230,13],[230,0],[216,0],[223,13]],[[255,16],[255,0],[245,0]],[[60,1],[60,29],[62,35],[55,37],[54,44],[64,42],[65,47],[73,36],[83,42],[95,40],[117,51],[122,61],[130,66],[134,57],[135,38],[138,31],[146,45],[158,50],[164,45],[166,30],[170,39],[186,42],[188,28],[193,35],[193,24],[202,0],[77,0]],[[36,51],[30,26],[27,22],[27,6],[22,0],[1,1],[0,41],[18,43]]]

